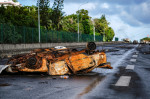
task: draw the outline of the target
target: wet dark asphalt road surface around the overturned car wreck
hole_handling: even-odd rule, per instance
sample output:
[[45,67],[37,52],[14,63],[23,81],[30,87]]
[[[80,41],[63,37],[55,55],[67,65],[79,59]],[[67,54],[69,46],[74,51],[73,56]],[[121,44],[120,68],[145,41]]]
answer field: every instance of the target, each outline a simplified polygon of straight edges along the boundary
[[[39,73],[3,73],[0,75],[0,99],[149,99],[149,48],[150,45],[133,44],[100,46],[97,49],[106,50],[113,69],[97,68],[68,79]],[[1,60],[0,64],[6,60]],[[126,69],[128,65],[134,69]],[[131,79],[119,83],[122,76]]]

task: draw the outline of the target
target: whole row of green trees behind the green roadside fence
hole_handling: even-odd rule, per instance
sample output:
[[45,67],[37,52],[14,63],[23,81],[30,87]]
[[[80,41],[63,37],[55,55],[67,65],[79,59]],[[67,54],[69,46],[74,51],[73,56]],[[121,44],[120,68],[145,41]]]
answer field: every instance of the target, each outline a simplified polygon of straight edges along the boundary
[[92,20],[88,10],[85,9],[76,11],[76,14],[66,15],[62,11],[64,0],[54,0],[52,7],[50,0],[37,0],[36,6],[1,6],[0,23],[37,28],[38,6],[41,29],[77,33],[79,21],[79,32],[82,34],[93,35],[95,27],[95,35],[104,36],[105,41],[112,41],[115,35],[105,15]]

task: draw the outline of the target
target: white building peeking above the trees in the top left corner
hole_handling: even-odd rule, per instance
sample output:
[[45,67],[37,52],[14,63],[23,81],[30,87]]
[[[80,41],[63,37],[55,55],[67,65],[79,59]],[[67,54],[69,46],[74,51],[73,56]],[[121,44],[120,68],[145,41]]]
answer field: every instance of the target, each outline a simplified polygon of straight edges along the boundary
[[13,2],[12,0],[0,0],[0,7],[1,6],[7,7],[7,6],[21,6],[19,2]]

